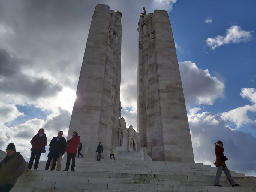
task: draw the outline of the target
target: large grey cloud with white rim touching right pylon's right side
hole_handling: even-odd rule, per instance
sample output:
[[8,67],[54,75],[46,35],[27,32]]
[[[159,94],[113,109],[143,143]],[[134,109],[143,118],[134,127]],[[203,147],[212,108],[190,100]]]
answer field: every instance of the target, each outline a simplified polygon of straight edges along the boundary
[[187,105],[211,105],[217,98],[224,97],[224,82],[212,77],[208,69],[199,69],[191,61],[179,62],[179,69]]

